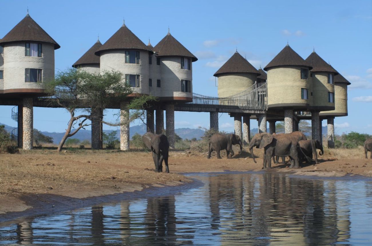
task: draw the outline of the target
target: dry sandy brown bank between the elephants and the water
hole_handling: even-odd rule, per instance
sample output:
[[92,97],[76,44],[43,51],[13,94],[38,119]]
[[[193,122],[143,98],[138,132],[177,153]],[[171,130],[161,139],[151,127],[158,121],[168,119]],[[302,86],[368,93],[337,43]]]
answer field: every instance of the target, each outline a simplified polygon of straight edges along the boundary
[[[192,182],[182,175],[185,172],[262,171],[262,150],[255,150],[255,154],[257,164],[245,152],[232,159],[212,156],[208,160],[206,154],[172,150],[170,174],[155,173],[152,155],[147,151],[77,150],[58,153],[55,150],[31,150],[15,155],[3,154],[0,155],[0,220],[1,214],[32,208],[30,197],[38,195],[83,200]],[[326,153],[318,159],[319,164],[302,164],[300,169],[289,169],[288,160],[286,164],[272,164],[270,172],[320,177],[355,174],[372,177],[372,159],[365,159],[362,152],[360,156],[341,158]],[[164,165],[163,169],[165,171]],[[41,198],[38,201],[50,205]]]

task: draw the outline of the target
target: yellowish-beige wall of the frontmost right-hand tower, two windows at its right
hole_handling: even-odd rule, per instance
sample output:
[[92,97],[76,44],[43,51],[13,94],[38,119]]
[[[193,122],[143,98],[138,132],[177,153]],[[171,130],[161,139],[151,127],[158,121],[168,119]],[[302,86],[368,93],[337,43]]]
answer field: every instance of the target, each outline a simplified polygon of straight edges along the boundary
[[[307,80],[301,79],[301,67],[269,68],[267,71],[267,106],[270,108],[306,107],[306,104],[310,105],[310,78],[309,72]],[[310,99],[301,99],[301,88],[309,89]]]

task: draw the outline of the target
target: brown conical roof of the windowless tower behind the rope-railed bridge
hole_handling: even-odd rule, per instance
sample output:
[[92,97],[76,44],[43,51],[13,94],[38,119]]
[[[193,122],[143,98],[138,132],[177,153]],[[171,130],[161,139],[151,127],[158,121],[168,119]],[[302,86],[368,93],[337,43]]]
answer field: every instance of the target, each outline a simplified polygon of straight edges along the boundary
[[215,72],[214,76],[225,73],[246,72],[261,75],[243,56],[235,52],[230,59]]

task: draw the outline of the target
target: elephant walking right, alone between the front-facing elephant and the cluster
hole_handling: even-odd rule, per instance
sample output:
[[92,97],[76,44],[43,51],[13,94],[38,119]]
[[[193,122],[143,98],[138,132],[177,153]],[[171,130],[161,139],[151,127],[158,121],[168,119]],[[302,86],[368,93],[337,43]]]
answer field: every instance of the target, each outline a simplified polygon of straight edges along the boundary
[[232,151],[232,145],[240,145],[240,151],[239,154],[242,152],[243,149],[243,143],[241,142],[240,136],[235,134],[219,134],[216,133],[211,136],[209,139],[209,153],[208,153],[208,159],[211,158],[211,153],[213,150],[216,150],[217,152],[217,158],[222,159],[219,155],[219,152],[222,149],[226,150],[227,159],[230,159],[234,155],[234,151]]

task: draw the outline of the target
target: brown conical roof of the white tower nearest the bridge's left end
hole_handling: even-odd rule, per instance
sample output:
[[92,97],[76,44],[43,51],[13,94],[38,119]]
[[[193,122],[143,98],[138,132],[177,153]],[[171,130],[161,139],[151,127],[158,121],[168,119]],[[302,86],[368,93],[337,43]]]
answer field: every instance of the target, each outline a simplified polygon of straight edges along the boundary
[[169,32],[157,45],[155,45],[153,51],[156,52],[157,56],[186,56],[192,58],[193,62],[198,61],[198,58],[178,42],[177,39],[170,35]]

